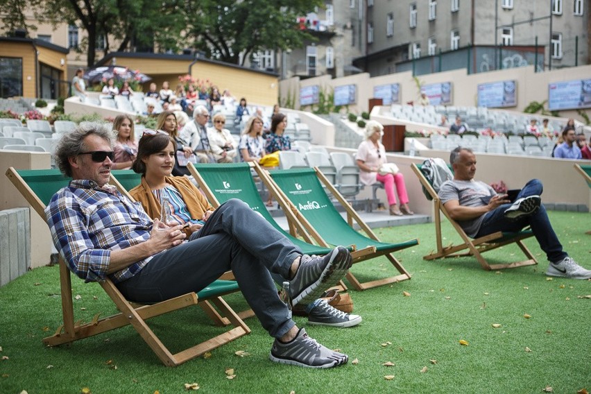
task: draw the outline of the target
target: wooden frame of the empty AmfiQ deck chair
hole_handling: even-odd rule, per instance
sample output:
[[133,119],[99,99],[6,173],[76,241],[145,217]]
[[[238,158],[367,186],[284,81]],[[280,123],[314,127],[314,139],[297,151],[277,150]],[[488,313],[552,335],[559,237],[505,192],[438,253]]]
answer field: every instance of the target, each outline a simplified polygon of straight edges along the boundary
[[[323,239],[322,234],[320,234],[321,230],[318,231],[316,228],[314,228],[309,223],[309,221],[305,217],[305,214],[302,214],[302,212],[300,212],[300,210],[298,208],[296,208],[295,205],[293,205],[291,200],[289,200],[289,197],[286,196],[286,194],[277,185],[277,183],[275,183],[275,181],[273,180],[271,175],[269,175],[268,171],[265,171],[264,169],[262,169],[260,166],[258,166],[258,164],[255,164],[255,169],[256,169],[257,173],[259,174],[259,176],[262,178],[262,180],[266,183],[267,187],[273,191],[273,194],[275,194],[275,196],[277,196],[277,201],[280,203],[284,212],[291,212],[292,213],[289,216],[289,220],[295,220],[295,221],[300,222],[301,225],[303,225],[306,228],[306,230],[308,232],[310,232],[310,234],[313,234],[314,238],[319,241],[320,245],[329,246],[329,243],[327,243]],[[295,171],[298,171],[298,170],[295,170]],[[302,171],[309,171],[309,169],[305,169]],[[320,186],[325,187],[325,191],[328,191],[330,193],[330,195],[328,197],[330,198],[330,196],[332,196],[334,199],[339,201],[339,203],[345,208],[345,212],[347,213],[346,225],[348,225],[350,228],[353,228],[353,224],[357,223],[357,225],[359,225],[359,228],[361,228],[361,230],[363,230],[367,234],[367,237],[370,240],[381,242],[381,241],[379,241],[376,234],[367,225],[367,223],[365,223],[365,221],[363,221],[363,219],[361,219],[361,216],[359,216],[359,214],[357,214],[357,212],[353,209],[353,207],[350,205],[350,203],[348,203],[348,201],[345,199],[345,197],[343,197],[339,193],[339,191],[336,189],[336,187],[334,187],[334,185],[332,185],[330,180],[325,177],[325,175],[322,173],[322,171],[320,171],[320,169],[318,169],[318,167],[314,167],[314,173],[316,175],[316,178],[318,178],[318,180],[320,181]],[[343,223],[343,225],[345,225],[345,224]],[[347,230],[349,230],[349,229],[347,229]],[[405,243],[392,243],[391,247],[381,248],[380,250],[377,250],[375,246],[366,246],[365,248],[359,250],[359,254],[353,258],[354,264],[366,261],[368,259],[373,259],[375,257],[385,256],[391,262],[391,264],[397,269],[397,271],[400,273],[400,275],[386,277],[386,278],[379,279],[379,280],[359,282],[359,280],[357,280],[357,277],[355,277],[355,275],[353,275],[353,273],[348,272],[347,279],[349,280],[349,282],[351,282],[351,284],[354,286],[354,288],[359,291],[371,289],[371,288],[377,287],[377,286],[384,286],[385,284],[401,282],[403,280],[409,280],[411,278],[411,274],[409,273],[409,271],[406,271],[406,268],[404,268],[404,266],[402,266],[402,264],[400,264],[400,262],[396,259],[396,257],[394,257],[394,255],[392,253],[396,252],[398,250],[402,250],[402,249],[409,248],[411,246],[416,246],[416,245],[418,245],[417,239],[413,239],[413,240],[407,241]],[[357,247],[359,247],[359,246],[357,246]]]

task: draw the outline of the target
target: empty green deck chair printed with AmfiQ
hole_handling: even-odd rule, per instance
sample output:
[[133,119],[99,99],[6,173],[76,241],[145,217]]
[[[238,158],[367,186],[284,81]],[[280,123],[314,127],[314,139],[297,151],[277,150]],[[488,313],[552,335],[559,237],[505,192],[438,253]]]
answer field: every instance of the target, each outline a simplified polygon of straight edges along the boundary
[[[305,223],[307,230],[316,232],[318,237],[323,239],[326,245],[352,244],[359,250],[366,250],[367,252],[353,259],[354,263],[382,255],[386,256],[400,273],[400,275],[379,280],[359,282],[357,277],[349,272],[347,279],[353,284],[355,289],[371,289],[372,287],[383,286],[384,284],[400,282],[411,278],[410,273],[406,271],[392,253],[418,245],[418,240],[411,239],[402,243],[385,243],[379,241],[374,232],[372,232],[369,226],[361,219],[359,214],[355,212],[318,167],[314,169],[268,171],[268,175],[271,175],[272,179],[262,169],[259,168],[258,171],[261,178],[267,182],[269,189],[273,190],[275,194],[280,195],[280,198],[277,200],[282,205],[284,211],[291,210],[295,212],[298,220]],[[326,192],[323,189],[323,185],[326,188]],[[345,221],[343,216],[336,210],[327,192],[332,194],[332,197],[343,205],[347,212],[348,221]],[[352,228],[353,221],[368,234],[368,237]]]

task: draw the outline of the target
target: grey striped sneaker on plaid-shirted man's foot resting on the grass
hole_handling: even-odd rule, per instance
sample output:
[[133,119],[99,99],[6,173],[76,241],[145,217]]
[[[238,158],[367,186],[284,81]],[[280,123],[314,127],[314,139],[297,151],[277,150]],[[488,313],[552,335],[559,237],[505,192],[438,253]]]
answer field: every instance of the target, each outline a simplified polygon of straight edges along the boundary
[[288,343],[275,339],[269,358],[276,363],[307,368],[332,368],[349,360],[347,354],[334,352],[311,339],[303,328]]

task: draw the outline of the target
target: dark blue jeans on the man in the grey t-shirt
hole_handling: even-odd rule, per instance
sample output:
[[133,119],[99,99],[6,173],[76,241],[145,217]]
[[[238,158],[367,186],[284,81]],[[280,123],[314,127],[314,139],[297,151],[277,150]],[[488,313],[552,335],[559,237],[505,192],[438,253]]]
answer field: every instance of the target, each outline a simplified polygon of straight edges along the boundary
[[[537,179],[530,180],[517,194],[517,198],[527,196],[540,196],[543,191],[542,182]],[[511,204],[504,204],[484,214],[484,220],[478,230],[477,237],[492,234],[493,232],[519,232],[526,226],[531,226],[533,235],[538,240],[540,248],[544,250],[550,262],[557,263],[567,257],[567,253],[563,251],[563,246],[556,237],[556,232],[552,228],[546,213],[544,205],[540,205],[540,209],[533,215],[523,216],[517,221],[508,221],[505,218],[505,210],[511,207]]]

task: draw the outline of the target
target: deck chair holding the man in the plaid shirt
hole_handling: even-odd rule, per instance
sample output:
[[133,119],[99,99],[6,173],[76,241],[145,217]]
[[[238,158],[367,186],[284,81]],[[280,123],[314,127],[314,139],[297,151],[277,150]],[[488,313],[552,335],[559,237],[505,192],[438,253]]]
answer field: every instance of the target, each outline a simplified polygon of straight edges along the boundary
[[[69,183],[66,178],[57,169],[52,170],[15,170],[10,167],[6,171],[6,176],[17,187],[22,196],[31,204],[35,212],[45,219],[44,207],[56,191],[65,187]],[[216,283],[217,282],[217,283]],[[221,295],[239,291],[236,282],[216,281],[211,286],[199,291],[198,294],[187,293],[177,298],[158,302],[153,305],[142,305],[135,307],[128,300],[123,298],[117,287],[110,279],[101,282],[101,286],[109,295],[111,300],[117,306],[121,313],[106,318],[100,318],[97,314],[90,323],[74,323],[74,309],[71,291],[71,277],[67,265],[60,257],[60,286],[62,295],[62,314],[64,324],[58,327],[55,334],[43,339],[46,345],[61,345],[87,338],[102,332],[116,329],[126,325],[132,325],[142,339],[155,352],[157,357],[166,366],[178,366],[189,359],[198,357],[205,352],[209,352],[219,346],[233,341],[243,335],[250,333],[250,328],[241,318],[225,303]],[[214,336],[202,343],[192,346],[178,353],[171,353],[166,346],[158,339],[154,332],[146,324],[146,319],[165,314],[189,305],[199,305],[202,301],[209,300],[222,311],[223,316],[230,320],[233,328]],[[211,316],[208,309],[205,312],[210,317],[221,321],[222,316]]]

